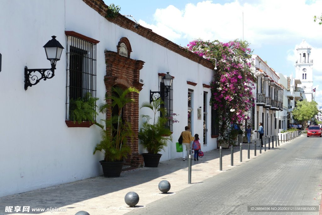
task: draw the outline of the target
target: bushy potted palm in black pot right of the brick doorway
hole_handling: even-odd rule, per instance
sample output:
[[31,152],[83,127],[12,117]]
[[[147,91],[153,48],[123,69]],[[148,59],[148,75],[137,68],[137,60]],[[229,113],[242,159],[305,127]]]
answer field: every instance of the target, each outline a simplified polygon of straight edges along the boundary
[[[154,113],[153,118],[150,115],[141,115],[146,121],[143,122],[139,131],[138,138],[147,153],[142,153],[144,165],[146,167],[157,167],[162,154],[159,151],[165,150],[167,141],[172,141],[172,132],[166,127],[166,109],[161,107],[164,102],[159,99],[154,99],[151,103],[142,103],[141,108],[149,108]],[[161,115],[157,116],[160,112]],[[153,123],[150,121],[153,120]]]

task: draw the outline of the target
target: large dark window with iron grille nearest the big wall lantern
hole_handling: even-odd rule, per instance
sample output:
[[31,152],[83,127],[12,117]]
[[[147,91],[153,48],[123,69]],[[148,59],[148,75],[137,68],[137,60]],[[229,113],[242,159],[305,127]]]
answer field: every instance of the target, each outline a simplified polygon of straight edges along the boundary
[[77,35],[66,32],[66,120],[74,120],[71,119],[71,104],[74,101],[96,97],[96,43],[89,42],[84,35]]

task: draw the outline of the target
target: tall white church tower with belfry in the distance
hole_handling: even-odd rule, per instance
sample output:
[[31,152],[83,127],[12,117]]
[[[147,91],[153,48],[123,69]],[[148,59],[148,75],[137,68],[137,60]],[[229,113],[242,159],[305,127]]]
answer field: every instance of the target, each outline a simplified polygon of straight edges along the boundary
[[[311,56],[311,46],[309,46],[305,40],[297,47],[298,59],[295,63],[295,76],[301,80],[302,84],[298,87],[302,88],[298,91],[302,91],[303,99],[307,99],[308,102],[313,100],[313,60]],[[304,92],[303,92],[304,91]]]

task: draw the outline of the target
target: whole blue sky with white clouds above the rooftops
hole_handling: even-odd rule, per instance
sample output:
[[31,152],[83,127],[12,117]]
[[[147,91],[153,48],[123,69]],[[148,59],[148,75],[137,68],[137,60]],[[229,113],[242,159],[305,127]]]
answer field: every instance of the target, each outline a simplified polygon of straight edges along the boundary
[[322,106],[322,25],[313,22],[321,15],[322,0],[104,0],[121,7],[120,14],[134,19],[167,39],[186,46],[189,41],[233,39],[251,43],[276,72],[295,71],[295,48],[306,39],[312,46],[313,86]]

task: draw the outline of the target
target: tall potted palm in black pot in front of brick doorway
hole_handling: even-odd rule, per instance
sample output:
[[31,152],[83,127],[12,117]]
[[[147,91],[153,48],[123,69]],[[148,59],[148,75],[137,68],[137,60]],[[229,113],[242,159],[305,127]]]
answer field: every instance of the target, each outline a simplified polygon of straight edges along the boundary
[[[133,131],[129,122],[122,120],[122,108],[134,102],[134,99],[128,98],[129,93],[138,93],[135,87],[122,89],[120,87],[112,87],[111,96],[105,100],[110,100],[110,103],[99,105],[99,112],[110,112],[109,119],[102,119],[102,124],[95,122],[100,127],[101,141],[96,144],[95,150],[101,151],[104,155],[104,160],[99,161],[103,168],[105,177],[119,177],[124,164],[124,158],[127,158],[131,152],[128,145],[129,138],[133,137]],[[113,113],[117,114],[113,114]]]

